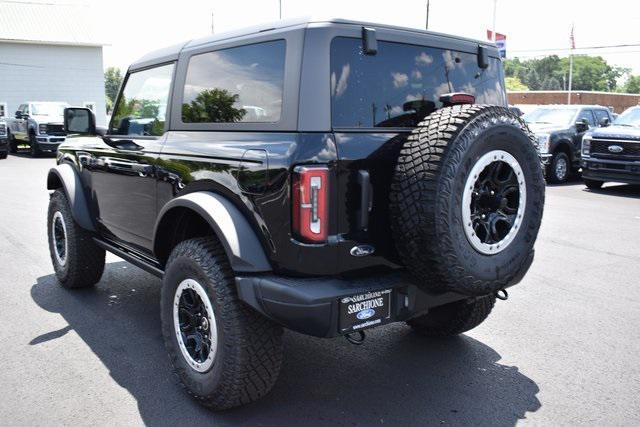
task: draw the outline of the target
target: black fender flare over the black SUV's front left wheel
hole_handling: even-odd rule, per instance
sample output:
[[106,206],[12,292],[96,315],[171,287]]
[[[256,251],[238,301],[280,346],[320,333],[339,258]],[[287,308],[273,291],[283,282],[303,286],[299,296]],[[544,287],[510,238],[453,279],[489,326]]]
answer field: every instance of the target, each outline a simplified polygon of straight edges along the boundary
[[47,175],[47,190],[62,188],[71,205],[73,219],[86,230],[95,231],[96,227],[89,213],[89,205],[82,189],[80,176],[75,168],[68,163],[59,164],[49,169]]

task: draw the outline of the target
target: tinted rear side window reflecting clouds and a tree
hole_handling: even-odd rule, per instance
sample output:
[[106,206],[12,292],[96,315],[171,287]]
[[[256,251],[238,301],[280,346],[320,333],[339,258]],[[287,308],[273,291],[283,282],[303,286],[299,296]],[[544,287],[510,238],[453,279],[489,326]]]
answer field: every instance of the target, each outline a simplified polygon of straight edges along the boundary
[[284,40],[191,57],[184,85],[182,121],[279,121],[284,60]]

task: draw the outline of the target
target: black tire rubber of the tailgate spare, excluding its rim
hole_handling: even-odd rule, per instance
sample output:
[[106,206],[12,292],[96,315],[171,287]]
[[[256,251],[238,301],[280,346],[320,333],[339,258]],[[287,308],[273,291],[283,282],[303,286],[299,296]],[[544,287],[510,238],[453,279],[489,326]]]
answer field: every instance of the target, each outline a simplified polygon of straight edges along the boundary
[[[533,261],[544,207],[545,183],[534,143],[520,118],[488,105],[442,108],[410,134],[391,184],[391,228],[418,286],[481,296],[522,279]],[[527,197],[512,241],[487,255],[467,238],[462,199],[472,168],[494,150],[518,161]]]

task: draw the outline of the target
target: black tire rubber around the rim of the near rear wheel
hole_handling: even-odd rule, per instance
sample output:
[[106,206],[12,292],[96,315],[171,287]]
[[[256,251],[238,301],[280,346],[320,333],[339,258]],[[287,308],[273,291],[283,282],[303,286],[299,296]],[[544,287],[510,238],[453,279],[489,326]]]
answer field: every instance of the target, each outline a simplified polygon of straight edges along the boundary
[[[218,343],[206,372],[190,366],[175,333],[173,304],[179,284],[193,279],[205,288]],[[224,249],[213,237],[179,243],[167,261],[161,292],[162,332],[175,374],[187,393],[213,410],[256,401],[274,386],[282,364],[282,328],[238,298]]]

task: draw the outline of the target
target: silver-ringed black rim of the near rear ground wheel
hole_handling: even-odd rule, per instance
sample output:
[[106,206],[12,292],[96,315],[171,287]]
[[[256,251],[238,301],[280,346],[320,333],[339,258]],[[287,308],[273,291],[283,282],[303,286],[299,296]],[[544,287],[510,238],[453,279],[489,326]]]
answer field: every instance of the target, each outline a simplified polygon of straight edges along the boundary
[[193,279],[183,280],[173,298],[173,326],[182,356],[198,372],[211,368],[218,329],[206,291]]

